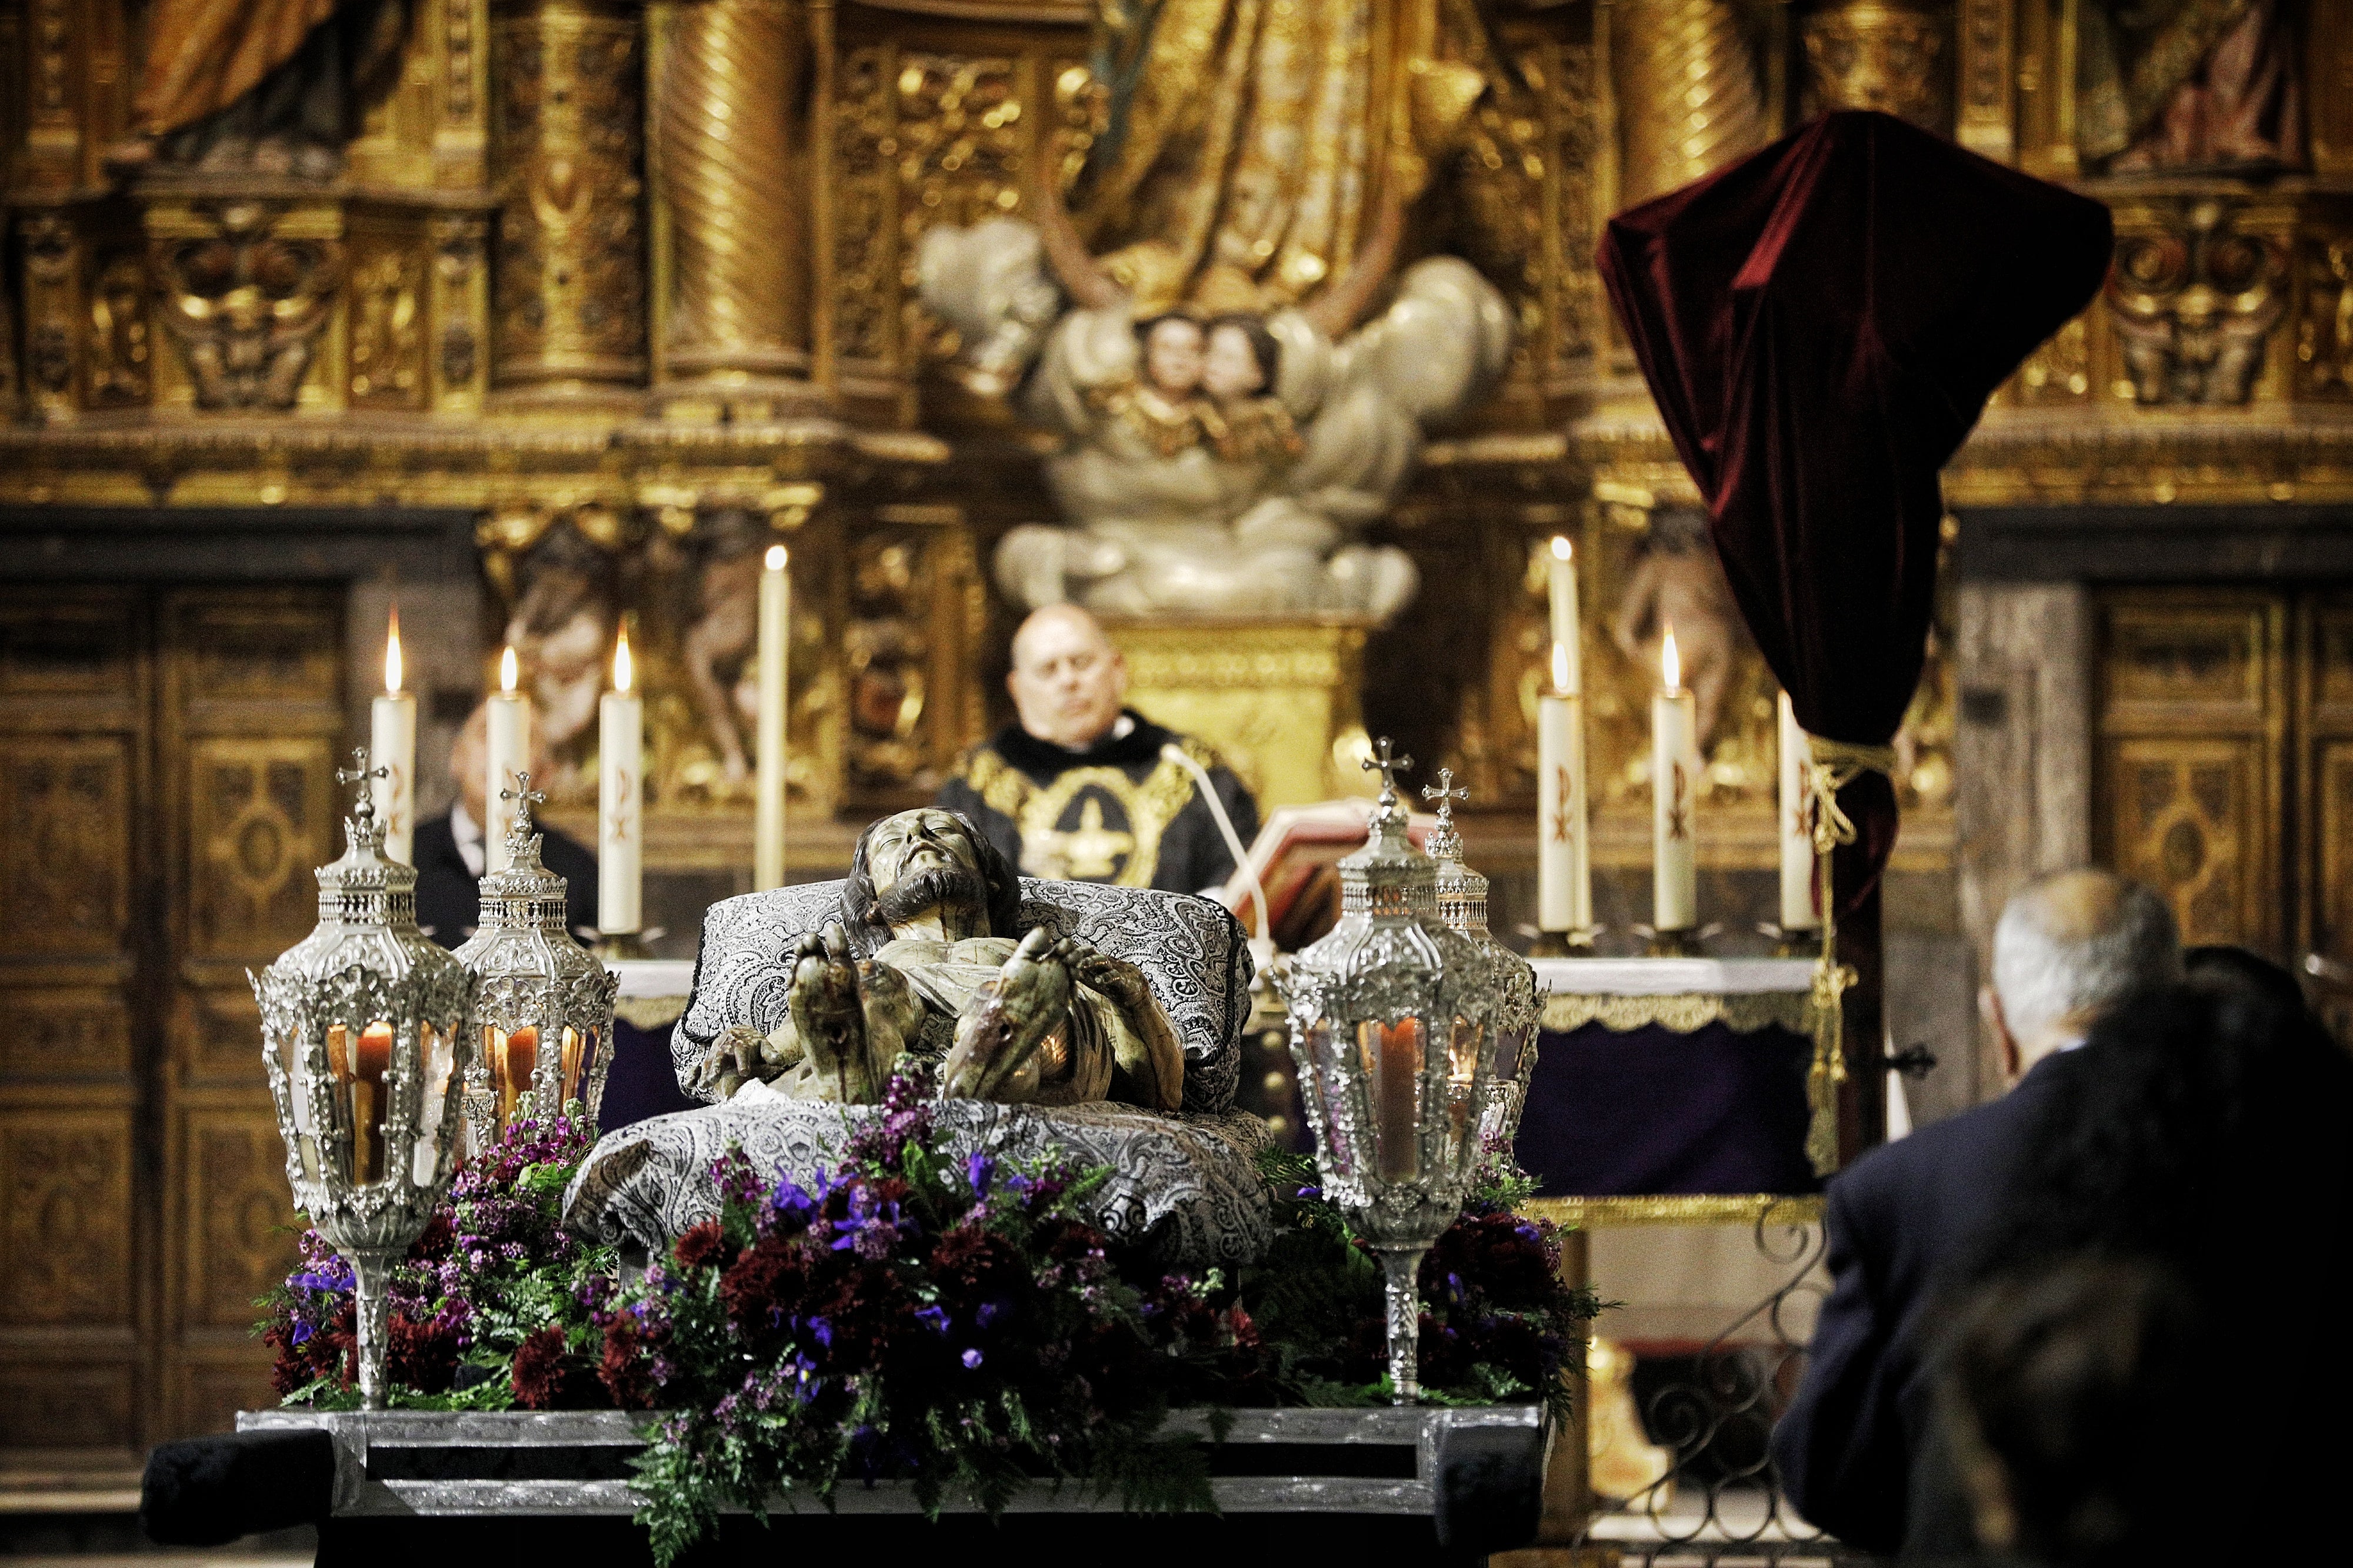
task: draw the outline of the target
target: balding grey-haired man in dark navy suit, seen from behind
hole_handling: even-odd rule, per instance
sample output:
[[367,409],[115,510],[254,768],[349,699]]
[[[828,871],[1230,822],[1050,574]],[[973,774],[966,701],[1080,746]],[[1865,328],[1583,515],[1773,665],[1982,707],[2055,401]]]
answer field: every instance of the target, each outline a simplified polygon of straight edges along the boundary
[[2141,884],[2078,870],[2026,886],[1995,926],[1981,997],[2014,1088],[1873,1150],[1831,1182],[1831,1295],[1772,1455],[1798,1512],[1849,1547],[1972,1549],[1946,1462],[1927,1453],[1941,1284],[2000,1206],[2019,1140],[2078,1070],[2071,1053],[2092,1020],[2179,978],[2174,919]]

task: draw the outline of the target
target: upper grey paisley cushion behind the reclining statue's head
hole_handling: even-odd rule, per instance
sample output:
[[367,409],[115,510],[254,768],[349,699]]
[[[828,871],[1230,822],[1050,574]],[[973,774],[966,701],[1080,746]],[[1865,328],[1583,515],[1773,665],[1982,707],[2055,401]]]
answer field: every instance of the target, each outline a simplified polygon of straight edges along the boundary
[[[678,1086],[694,1093],[694,1065],[727,1025],[767,1034],[786,1020],[791,971],[784,954],[840,919],[840,882],[802,882],[711,905],[694,969],[694,999],[671,1032]],[[1184,1046],[1184,1107],[1217,1114],[1233,1105],[1249,1016],[1249,943],[1221,905],[1191,893],[1120,889],[1096,882],[1021,879],[1021,931],[1075,936],[1151,980]]]

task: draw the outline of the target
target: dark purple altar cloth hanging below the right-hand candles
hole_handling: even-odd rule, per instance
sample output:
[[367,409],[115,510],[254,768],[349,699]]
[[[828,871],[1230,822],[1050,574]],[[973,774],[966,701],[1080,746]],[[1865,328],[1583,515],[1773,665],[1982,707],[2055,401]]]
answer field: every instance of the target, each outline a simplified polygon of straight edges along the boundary
[[1781,1027],[1544,1030],[1513,1145],[1544,1197],[1819,1192],[1812,1041]]

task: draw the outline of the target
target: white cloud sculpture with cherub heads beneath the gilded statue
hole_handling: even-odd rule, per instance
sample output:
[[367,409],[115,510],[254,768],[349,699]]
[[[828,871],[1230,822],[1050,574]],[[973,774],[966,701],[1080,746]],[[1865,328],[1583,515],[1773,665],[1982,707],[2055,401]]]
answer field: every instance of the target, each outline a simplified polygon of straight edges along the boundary
[[1005,536],[1005,595],[1113,616],[1386,621],[1402,609],[1414,564],[1365,534],[1424,430],[1504,371],[1501,294],[1466,261],[1433,256],[1351,331],[1388,282],[1395,207],[1344,277],[1264,317],[1165,303],[1134,270],[1122,284],[1056,202],[1042,216],[1042,230],[1016,219],[934,228],[920,256],[925,303],[965,339],[967,383],[1019,388],[1021,411],[1064,437],[1045,463],[1064,522]]

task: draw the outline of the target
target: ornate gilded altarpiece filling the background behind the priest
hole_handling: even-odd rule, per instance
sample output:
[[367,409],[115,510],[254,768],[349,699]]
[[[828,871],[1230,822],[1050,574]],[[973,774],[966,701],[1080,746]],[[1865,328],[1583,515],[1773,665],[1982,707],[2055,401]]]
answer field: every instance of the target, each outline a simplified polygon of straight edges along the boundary
[[[560,823],[565,790],[572,820],[591,799],[628,621],[649,870],[725,893],[751,860],[748,595],[788,543],[791,853],[826,875],[838,823],[927,797],[1000,715],[1014,609],[988,562],[1045,508],[1052,437],[955,374],[925,235],[1040,219],[1042,181],[1108,235],[1082,169],[1136,92],[1122,19],[1266,68],[1304,7],[1238,42],[1261,16],[1228,0],[320,0],[336,49],[266,80],[153,59],[233,56],[242,14],[282,9],[0,5],[9,1455],[120,1458],[261,1396],[245,1328],[287,1194],[242,971],[306,929],[386,604],[428,628],[428,757],[518,642]],[[1231,628],[1139,625],[1146,693],[1254,769],[1249,736],[1344,748],[1358,719],[1452,766],[1508,929],[1537,550],[1569,534],[1598,863],[1628,886],[1645,863],[1642,696],[1673,621],[1708,705],[1708,896],[1762,914],[1769,677],[1593,249],[1609,212],[1817,108],[1885,108],[2118,216],[2108,289],[1948,475],[1958,571],[1901,741],[1887,922],[1889,964],[1946,964],[1962,1001],[1892,1004],[1889,1027],[1967,1039],[1969,943],[2021,877],[2092,853],[2167,889],[2193,940],[2353,961],[2346,7],[2177,0],[2160,40],[2108,0],[1322,9],[1362,38],[1339,183],[1412,188],[1400,254],[1501,292],[1508,367],[1374,524],[1419,569],[1395,618],[1252,656]],[[2151,108],[2118,61],[2158,45],[2188,66]],[[2278,61],[2271,96],[2226,56]],[[158,118],[207,82],[247,87]],[[1362,209],[1332,247],[1369,230]],[[1287,273],[1299,299],[1332,261]],[[1974,1060],[1946,1081],[1972,1098]]]

